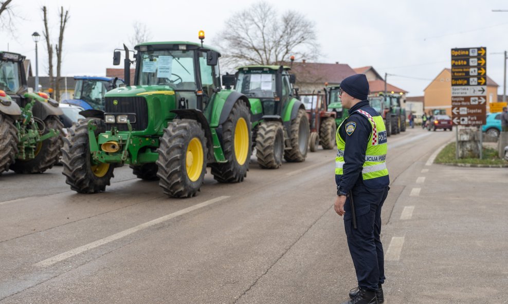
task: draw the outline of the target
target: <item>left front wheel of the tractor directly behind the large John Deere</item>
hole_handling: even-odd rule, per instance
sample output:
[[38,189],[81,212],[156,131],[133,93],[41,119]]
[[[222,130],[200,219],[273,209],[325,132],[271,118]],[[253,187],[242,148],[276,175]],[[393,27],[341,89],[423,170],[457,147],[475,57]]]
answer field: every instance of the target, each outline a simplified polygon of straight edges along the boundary
[[277,169],[284,154],[284,127],[279,121],[263,121],[256,135],[256,157],[263,169]]

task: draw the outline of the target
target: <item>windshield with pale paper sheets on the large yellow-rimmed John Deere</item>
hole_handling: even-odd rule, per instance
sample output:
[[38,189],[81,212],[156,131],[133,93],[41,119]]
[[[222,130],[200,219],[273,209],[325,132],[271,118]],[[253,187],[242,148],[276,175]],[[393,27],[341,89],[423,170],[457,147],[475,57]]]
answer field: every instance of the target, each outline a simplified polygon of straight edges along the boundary
[[196,90],[193,51],[139,52],[138,85],[167,85],[174,90]]

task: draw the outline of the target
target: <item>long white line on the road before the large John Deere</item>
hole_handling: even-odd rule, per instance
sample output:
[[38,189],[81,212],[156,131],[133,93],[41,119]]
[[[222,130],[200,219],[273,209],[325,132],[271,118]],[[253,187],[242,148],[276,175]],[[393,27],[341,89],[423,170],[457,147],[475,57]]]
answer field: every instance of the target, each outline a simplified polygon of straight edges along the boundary
[[33,266],[36,266],[36,267],[51,266],[51,265],[53,265],[53,264],[55,264],[55,263],[57,263],[59,261],[67,259],[67,258],[69,258],[71,256],[75,256],[75,255],[78,255],[78,254],[80,254],[82,252],[85,252],[87,250],[94,249],[94,248],[99,247],[101,245],[107,244],[108,242],[117,240],[117,239],[122,238],[124,236],[127,236],[129,234],[133,234],[134,232],[140,231],[142,229],[149,228],[151,226],[159,224],[159,223],[161,223],[163,221],[166,221],[168,219],[177,217],[179,215],[183,215],[183,214],[189,213],[191,211],[194,211],[196,209],[206,207],[208,205],[213,204],[214,202],[221,201],[221,200],[226,199],[228,197],[229,196],[219,196],[219,197],[216,197],[216,198],[212,198],[210,200],[202,202],[201,204],[197,204],[197,205],[191,206],[189,208],[185,208],[185,209],[179,210],[177,212],[174,212],[174,213],[171,213],[171,214],[168,214],[168,215],[156,218],[154,220],[148,221],[148,222],[146,222],[144,224],[141,224],[141,225],[138,225],[136,227],[133,227],[133,228],[121,231],[121,232],[119,232],[117,234],[110,235],[108,237],[96,240],[95,242],[91,242],[89,244],[86,244],[86,245],[83,245],[81,247],[69,250],[69,251],[64,252],[62,254],[50,257],[48,259],[45,259],[43,261],[38,262],[37,264],[34,264]]

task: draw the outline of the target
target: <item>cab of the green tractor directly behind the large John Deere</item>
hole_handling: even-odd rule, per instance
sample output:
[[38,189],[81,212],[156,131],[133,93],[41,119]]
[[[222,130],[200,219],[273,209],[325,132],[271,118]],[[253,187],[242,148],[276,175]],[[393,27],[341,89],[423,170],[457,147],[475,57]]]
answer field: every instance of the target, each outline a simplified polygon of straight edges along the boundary
[[244,66],[238,68],[235,90],[261,100],[264,115],[281,115],[294,96],[295,76],[286,66]]

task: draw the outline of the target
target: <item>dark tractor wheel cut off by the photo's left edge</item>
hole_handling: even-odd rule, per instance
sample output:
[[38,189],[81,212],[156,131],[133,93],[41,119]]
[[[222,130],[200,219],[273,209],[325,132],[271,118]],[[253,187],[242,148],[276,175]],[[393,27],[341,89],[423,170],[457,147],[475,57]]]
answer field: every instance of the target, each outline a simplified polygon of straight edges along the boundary
[[14,121],[7,115],[0,113],[0,174],[9,170],[14,163],[17,153],[17,129]]

